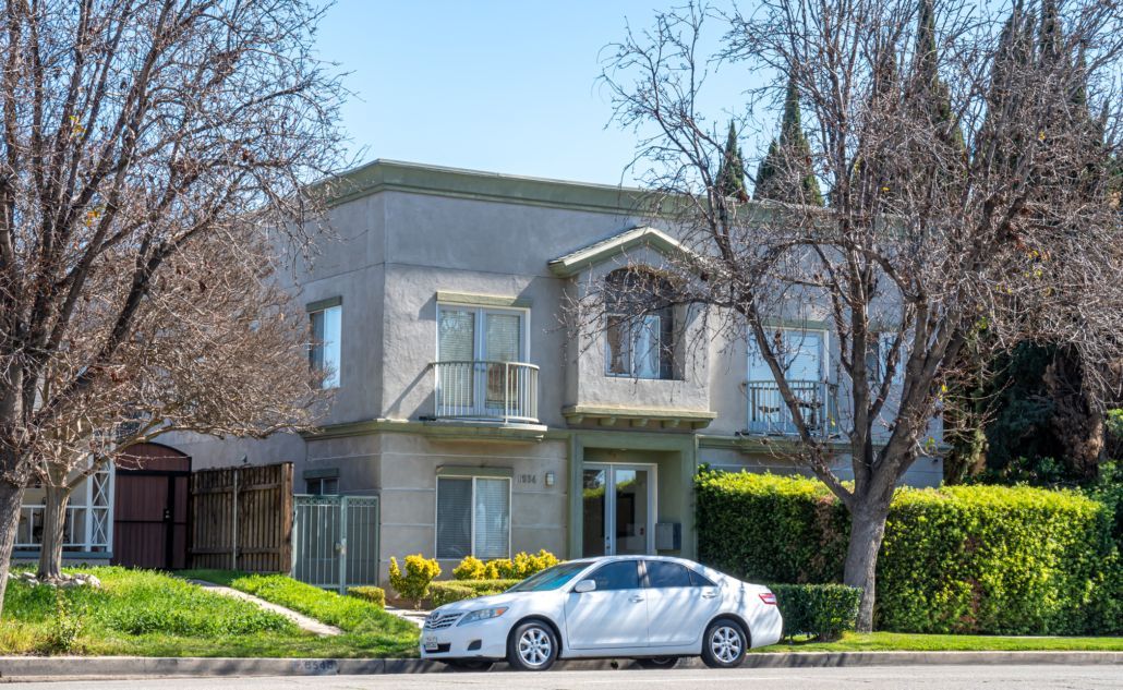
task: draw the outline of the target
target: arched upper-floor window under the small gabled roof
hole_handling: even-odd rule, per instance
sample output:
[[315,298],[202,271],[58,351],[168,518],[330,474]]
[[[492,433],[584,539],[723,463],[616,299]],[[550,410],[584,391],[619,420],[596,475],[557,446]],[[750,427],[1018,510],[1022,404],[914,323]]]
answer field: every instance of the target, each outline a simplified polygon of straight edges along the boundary
[[649,270],[621,268],[604,280],[608,376],[674,378],[675,316],[670,283]]

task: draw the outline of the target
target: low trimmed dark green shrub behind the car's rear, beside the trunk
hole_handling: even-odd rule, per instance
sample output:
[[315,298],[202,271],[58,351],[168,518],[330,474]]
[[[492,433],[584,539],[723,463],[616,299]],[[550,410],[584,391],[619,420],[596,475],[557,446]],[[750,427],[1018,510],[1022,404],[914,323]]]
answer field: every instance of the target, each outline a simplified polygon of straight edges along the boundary
[[784,635],[834,640],[858,620],[861,590],[846,585],[769,585],[784,616]]

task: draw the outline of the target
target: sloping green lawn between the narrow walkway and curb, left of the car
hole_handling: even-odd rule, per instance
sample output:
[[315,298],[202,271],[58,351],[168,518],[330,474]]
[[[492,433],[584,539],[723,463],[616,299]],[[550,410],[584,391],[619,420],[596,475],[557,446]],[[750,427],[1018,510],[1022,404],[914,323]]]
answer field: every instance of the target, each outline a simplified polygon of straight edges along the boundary
[[319,637],[284,616],[165,573],[116,567],[67,572],[93,573],[103,588],[54,590],[10,581],[0,622],[0,654],[396,657],[417,653],[417,628],[381,610],[367,622],[353,618],[344,635]]

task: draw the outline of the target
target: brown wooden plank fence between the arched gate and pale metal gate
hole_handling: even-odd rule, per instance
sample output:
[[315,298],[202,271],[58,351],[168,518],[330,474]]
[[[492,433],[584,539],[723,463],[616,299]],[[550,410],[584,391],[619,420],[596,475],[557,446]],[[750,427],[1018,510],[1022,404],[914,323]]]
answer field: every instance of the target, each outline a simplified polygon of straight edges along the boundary
[[191,567],[289,572],[292,463],[191,476]]

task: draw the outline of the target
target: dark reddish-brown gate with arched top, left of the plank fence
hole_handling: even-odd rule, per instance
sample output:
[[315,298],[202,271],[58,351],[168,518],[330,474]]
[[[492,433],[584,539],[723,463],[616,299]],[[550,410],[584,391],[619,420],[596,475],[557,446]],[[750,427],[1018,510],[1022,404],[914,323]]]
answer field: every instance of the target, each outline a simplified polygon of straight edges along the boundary
[[115,565],[188,567],[190,478],[191,458],[167,445],[138,443],[117,459]]

